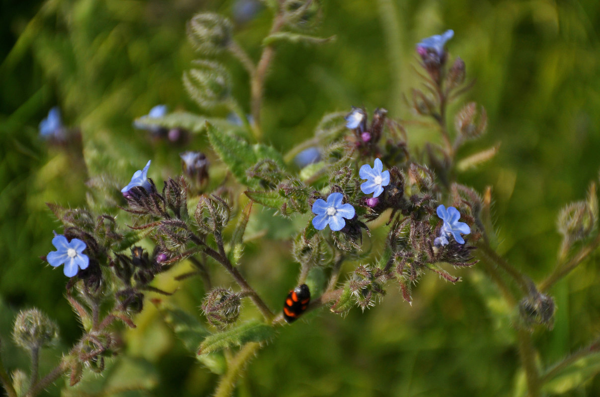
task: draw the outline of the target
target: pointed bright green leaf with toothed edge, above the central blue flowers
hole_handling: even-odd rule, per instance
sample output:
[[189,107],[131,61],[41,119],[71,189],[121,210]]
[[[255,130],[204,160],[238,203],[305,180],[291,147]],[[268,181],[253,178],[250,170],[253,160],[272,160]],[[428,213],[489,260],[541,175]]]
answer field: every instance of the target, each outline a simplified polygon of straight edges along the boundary
[[260,160],[272,160],[281,169],[284,169],[281,154],[270,146],[256,144],[251,146],[244,140],[231,134],[218,131],[212,124],[208,125],[208,139],[212,148],[219,155],[223,163],[242,184],[259,188],[260,180],[248,178],[246,172]]

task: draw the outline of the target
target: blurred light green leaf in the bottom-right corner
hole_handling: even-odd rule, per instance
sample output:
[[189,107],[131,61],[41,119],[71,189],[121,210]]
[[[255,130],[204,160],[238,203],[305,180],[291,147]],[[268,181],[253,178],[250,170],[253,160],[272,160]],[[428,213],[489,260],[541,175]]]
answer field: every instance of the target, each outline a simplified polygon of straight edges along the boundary
[[598,372],[600,372],[600,353],[591,353],[565,366],[544,384],[543,390],[553,394],[566,393],[581,386]]

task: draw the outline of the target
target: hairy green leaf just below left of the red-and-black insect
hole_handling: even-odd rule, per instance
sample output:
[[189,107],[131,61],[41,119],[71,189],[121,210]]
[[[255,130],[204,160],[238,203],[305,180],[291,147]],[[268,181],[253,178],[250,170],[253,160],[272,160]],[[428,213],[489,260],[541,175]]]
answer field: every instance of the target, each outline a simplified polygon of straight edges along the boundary
[[200,344],[197,354],[213,353],[224,348],[242,346],[248,342],[263,342],[275,335],[273,327],[251,320],[238,327],[208,336]]

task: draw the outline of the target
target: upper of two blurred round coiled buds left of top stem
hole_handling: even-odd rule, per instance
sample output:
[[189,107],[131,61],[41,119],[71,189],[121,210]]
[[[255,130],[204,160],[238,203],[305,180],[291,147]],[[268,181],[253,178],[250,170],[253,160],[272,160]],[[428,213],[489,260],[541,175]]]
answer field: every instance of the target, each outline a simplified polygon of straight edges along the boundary
[[187,25],[190,43],[203,55],[222,52],[232,41],[232,23],[213,13],[194,16]]

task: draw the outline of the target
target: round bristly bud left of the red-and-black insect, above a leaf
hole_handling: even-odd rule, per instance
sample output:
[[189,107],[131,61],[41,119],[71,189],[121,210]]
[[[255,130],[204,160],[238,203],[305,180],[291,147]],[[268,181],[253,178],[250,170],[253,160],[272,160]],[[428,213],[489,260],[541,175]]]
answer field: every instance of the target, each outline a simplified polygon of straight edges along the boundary
[[238,320],[241,308],[241,295],[230,289],[213,288],[202,302],[206,320],[215,327],[223,328]]

